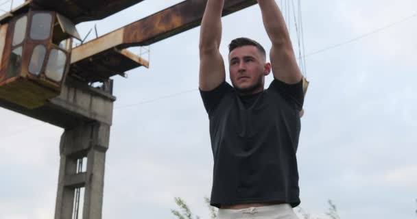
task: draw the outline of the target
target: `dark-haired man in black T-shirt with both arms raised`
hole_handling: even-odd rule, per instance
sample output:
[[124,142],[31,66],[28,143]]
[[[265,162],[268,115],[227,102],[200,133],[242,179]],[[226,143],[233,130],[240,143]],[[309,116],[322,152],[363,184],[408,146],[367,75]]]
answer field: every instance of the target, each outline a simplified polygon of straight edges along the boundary
[[[213,150],[211,205],[224,218],[297,218],[296,151],[304,94],[289,33],[274,0],[258,0],[272,42],[270,61],[254,40],[229,45],[226,83],[219,53],[224,0],[208,0],[200,33],[200,93]],[[265,76],[274,81],[264,90]]]

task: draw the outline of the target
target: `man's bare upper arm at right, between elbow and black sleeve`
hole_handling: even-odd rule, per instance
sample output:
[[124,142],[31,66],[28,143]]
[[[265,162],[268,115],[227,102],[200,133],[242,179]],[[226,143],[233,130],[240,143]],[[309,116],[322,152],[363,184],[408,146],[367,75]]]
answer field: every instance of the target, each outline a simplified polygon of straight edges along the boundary
[[291,45],[272,46],[270,60],[272,73],[276,79],[290,84],[301,80],[302,74]]

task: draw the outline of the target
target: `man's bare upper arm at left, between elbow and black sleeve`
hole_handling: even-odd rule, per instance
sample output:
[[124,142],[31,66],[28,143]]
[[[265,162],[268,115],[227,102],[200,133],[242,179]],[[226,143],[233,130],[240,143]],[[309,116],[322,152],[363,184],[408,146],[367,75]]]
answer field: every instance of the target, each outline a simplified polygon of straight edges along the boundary
[[200,90],[208,91],[217,88],[226,80],[224,60],[218,49],[200,49]]

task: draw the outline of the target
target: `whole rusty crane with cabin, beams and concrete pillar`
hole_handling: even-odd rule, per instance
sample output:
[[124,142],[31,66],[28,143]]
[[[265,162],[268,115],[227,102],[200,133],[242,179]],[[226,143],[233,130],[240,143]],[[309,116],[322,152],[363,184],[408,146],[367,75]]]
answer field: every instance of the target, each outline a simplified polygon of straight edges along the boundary
[[[197,27],[206,5],[206,0],[182,1],[73,47],[73,38],[80,40],[75,25],[141,1],[26,0],[0,17],[0,107],[64,128],[56,219],[73,218],[80,207],[80,188],[85,191],[82,218],[102,218],[105,157],[116,100],[112,77],[149,66],[127,48]],[[255,3],[226,0],[223,15]],[[103,86],[91,86],[97,81]]]

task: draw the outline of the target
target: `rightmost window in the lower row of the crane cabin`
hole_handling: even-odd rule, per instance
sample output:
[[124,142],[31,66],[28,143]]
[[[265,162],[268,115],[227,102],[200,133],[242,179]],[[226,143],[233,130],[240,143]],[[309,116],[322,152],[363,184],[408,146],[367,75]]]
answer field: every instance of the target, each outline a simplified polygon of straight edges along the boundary
[[59,49],[51,49],[45,75],[53,81],[59,82],[64,75],[67,54]]

